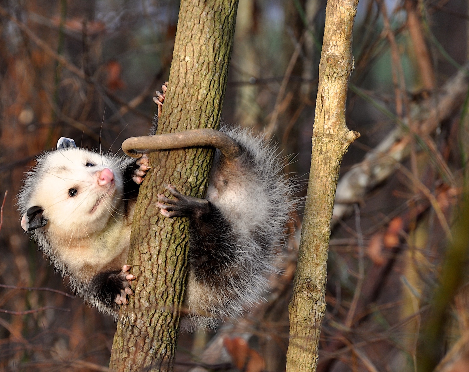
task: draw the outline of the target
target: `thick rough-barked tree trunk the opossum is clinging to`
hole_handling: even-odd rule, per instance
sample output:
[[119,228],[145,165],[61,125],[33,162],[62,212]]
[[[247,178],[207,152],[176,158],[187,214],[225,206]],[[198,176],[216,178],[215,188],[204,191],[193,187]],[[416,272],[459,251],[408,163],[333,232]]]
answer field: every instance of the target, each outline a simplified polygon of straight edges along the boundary
[[[237,0],[182,0],[158,134],[219,127],[233,45]],[[203,197],[211,150],[153,152],[141,186],[128,262],[137,279],[119,313],[110,367],[171,371],[187,276],[188,225],[159,214],[157,194],[168,183]]]

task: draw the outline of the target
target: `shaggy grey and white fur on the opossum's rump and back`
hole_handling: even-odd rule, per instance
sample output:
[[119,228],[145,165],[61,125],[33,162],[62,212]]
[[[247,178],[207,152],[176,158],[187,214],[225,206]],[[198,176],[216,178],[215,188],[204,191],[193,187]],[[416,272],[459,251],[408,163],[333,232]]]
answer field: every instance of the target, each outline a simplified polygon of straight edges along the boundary
[[227,202],[212,195],[214,179],[223,173],[217,150],[206,199],[233,222],[235,239],[231,247],[237,260],[233,275],[226,278],[229,284],[210,288],[217,294],[219,305],[206,309],[209,316],[189,311],[190,322],[209,327],[215,319],[239,316],[263,298],[269,287],[267,278],[276,271],[273,261],[285,244],[284,229],[295,208],[294,186],[282,174],[283,162],[275,148],[245,129],[223,127],[221,131],[243,150],[238,158],[242,177],[231,172],[225,175],[240,197]]

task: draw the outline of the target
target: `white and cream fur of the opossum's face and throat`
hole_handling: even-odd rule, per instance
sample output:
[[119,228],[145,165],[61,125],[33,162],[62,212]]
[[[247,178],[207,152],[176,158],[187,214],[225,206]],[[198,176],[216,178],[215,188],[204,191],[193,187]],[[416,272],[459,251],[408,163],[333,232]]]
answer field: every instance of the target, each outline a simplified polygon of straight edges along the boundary
[[[26,175],[18,205],[22,213],[42,207],[48,222],[33,235],[76,287],[75,281],[87,283],[116,258],[127,256],[130,224],[123,218],[121,202],[125,164],[121,158],[79,148],[47,152],[37,161]],[[114,181],[99,186],[97,176],[106,167],[114,170]],[[68,195],[71,188],[77,190],[74,197]]]

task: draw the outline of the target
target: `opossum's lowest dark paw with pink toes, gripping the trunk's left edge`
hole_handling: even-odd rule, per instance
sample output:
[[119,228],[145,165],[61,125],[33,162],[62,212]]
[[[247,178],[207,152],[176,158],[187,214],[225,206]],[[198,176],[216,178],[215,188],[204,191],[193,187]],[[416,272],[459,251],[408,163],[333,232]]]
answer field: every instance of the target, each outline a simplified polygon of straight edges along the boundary
[[131,266],[124,265],[122,270],[106,271],[96,275],[91,281],[99,301],[109,307],[127,304],[127,295],[133,295],[130,284],[136,277],[129,273]]

